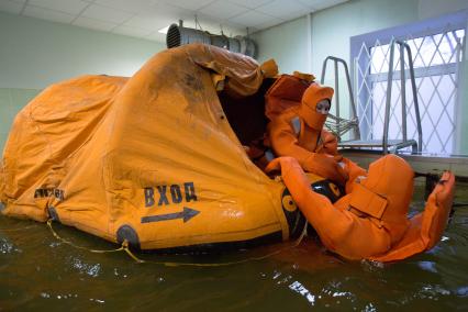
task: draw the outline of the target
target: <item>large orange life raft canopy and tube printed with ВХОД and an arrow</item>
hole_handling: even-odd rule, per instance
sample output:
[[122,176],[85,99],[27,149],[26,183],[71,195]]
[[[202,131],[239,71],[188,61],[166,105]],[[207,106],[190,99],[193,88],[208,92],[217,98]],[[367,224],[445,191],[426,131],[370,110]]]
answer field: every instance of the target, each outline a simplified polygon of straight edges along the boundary
[[131,78],[48,87],[16,115],[5,144],[2,214],[53,219],[136,249],[298,235],[305,220],[285,185],[247,157],[213,74],[237,97],[264,79],[249,57],[191,44],[158,53]]

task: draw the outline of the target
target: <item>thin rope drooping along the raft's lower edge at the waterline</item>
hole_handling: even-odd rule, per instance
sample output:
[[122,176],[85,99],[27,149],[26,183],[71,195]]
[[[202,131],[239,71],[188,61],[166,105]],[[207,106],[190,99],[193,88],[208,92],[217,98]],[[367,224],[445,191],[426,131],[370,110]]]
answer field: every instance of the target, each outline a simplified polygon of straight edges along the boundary
[[125,252],[132,259],[134,259],[136,263],[138,264],[153,264],[153,265],[164,265],[167,267],[177,267],[177,266],[188,266],[188,267],[224,267],[224,266],[233,266],[233,265],[239,265],[239,264],[245,264],[248,261],[258,261],[258,260],[263,260],[266,258],[269,258],[271,256],[278,255],[287,249],[292,249],[296,248],[297,246],[299,246],[299,244],[302,242],[302,239],[304,238],[304,236],[308,233],[308,223],[305,223],[304,229],[302,230],[301,235],[299,236],[298,239],[296,239],[296,242],[292,245],[286,246],[283,248],[277,249],[275,252],[268,253],[264,256],[258,256],[258,257],[248,257],[245,258],[243,260],[237,260],[237,261],[230,261],[230,263],[218,263],[218,264],[198,264],[198,263],[174,263],[174,261],[153,261],[153,260],[144,260],[138,258],[134,253],[132,253],[132,250],[129,247],[129,242],[125,239],[123,241],[122,245],[116,248],[116,249],[107,249],[107,250],[100,250],[100,249],[91,249],[91,248],[87,248],[83,246],[78,246],[76,244],[74,244],[73,242],[63,238],[62,236],[59,236],[57,234],[57,232],[54,231],[54,229],[52,227],[52,222],[53,220],[49,219],[47,220],[47,226],[51,229],[52,234],[54,235],[55,238],[57,238],[58,241],[63,242],[64,244],[67,244],[69,246],[73,246],[75,248],[78,249],[85,249],[91,253],[96,253],[96,254],[104,254],[104,253],[115,253],[115,252]]

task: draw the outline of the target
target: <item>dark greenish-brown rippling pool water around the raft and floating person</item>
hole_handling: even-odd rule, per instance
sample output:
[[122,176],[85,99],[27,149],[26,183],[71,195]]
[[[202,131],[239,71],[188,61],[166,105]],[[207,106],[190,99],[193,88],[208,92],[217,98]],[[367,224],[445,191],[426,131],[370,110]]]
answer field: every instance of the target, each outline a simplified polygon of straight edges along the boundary
[[[423,188],[413,207],[421,209]],[[468,185],[431,252],[381,265],[345,261],[311,238],[214,255],[137,255],[152,261],[230,266],[138,264],[118,246],[73,227],[0,216],[0,310],[49,311],[468,311]]]

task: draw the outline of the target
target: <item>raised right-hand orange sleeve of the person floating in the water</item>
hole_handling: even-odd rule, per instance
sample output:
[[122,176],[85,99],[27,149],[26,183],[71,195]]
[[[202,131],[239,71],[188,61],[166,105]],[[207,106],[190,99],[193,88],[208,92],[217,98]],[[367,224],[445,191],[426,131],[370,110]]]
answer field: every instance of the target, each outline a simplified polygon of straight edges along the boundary
[[445,171],[427,199],[424,211],[413,216],[403,238],[385,255],[370,258],[395,261],[428,250],[441,241],[454,200],[455,176]]

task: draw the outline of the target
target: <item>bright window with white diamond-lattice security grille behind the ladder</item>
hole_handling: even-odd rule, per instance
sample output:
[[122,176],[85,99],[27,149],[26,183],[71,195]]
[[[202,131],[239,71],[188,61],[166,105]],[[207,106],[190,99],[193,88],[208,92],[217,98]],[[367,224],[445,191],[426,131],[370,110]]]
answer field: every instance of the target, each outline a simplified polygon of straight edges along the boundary
[[[458,70],[466,41],[466,14],[460,21],[442,18],[352,38],[354,85],[363,140],[383,135],[390,41],[403,40],[411,47],[423,130],[423,153],[452,154],[455,149]],[[404,70],[409,71],[408,58]],[[402,137],[400,55],[394,49],[389,138]],[[414,101],[406,81],[406,132],[417,138]]]

